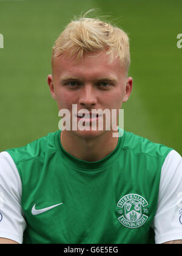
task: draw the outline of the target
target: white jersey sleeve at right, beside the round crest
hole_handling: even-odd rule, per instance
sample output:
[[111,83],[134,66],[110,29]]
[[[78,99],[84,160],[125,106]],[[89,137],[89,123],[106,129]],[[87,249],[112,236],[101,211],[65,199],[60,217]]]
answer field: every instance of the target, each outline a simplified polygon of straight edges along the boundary
[[172,150],[161,169],[157,213],[153,221],[155,243],[182,240],[182,158]]

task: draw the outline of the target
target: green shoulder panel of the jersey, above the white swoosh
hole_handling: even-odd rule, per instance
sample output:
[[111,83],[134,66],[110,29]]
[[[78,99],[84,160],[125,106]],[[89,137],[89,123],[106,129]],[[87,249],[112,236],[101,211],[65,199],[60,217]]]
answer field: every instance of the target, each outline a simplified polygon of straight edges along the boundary
[[15,163],[44,157],[45,152],[56,151],[55,136],[58,135],[58,133],[59,130],[57,132],[48,133],[47,136],[32,141],[21,148],[7,149],[6,152],[13,158]]

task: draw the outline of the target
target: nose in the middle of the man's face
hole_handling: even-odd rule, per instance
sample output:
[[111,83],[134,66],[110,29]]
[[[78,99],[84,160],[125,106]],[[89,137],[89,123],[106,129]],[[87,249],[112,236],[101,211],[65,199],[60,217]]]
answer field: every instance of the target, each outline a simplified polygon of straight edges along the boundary
[[92,85],[85,85],[83,90],[80,91],[79,104],[82,107],[93,107],[97,103],[96,91]]

